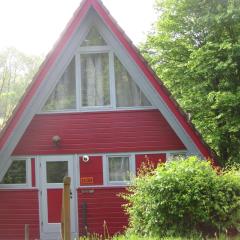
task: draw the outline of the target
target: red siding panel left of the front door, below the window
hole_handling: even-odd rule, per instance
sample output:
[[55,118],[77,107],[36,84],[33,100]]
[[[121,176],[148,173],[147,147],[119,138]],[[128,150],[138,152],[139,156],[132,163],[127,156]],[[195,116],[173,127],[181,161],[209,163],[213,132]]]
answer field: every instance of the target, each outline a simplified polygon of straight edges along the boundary
[[30,239],[39,239],[37,190],[0,190],[0,239],[24,239],[24,224],[29,224]]

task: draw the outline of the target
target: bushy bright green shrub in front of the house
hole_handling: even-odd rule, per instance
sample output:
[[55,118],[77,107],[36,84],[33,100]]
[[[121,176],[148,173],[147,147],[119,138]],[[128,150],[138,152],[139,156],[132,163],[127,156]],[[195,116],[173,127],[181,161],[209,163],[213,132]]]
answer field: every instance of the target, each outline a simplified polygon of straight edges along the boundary
[[143,173],[123,195],[130,233],[189,236],[239,227],[238,168],[217,172],[210,162],[189,157]]

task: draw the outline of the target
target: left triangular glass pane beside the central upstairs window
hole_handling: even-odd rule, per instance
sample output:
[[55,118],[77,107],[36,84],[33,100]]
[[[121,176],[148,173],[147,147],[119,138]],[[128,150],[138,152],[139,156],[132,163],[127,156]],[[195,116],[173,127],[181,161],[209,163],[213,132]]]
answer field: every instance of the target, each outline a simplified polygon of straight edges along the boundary
[[75,60],[73,59],[63,73],[53,93],[50,95],[43,111],[76,108]]

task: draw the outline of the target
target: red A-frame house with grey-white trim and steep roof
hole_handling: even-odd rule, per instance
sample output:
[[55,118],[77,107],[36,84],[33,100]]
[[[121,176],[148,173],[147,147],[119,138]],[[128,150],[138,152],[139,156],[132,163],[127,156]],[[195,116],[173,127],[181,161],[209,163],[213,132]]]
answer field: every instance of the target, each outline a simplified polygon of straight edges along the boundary
[[58,239],[62,179],[72,235],[127,225],[122,200],[143,161],[214,157],[99,0],[85,0],[0,136],[0,239]]

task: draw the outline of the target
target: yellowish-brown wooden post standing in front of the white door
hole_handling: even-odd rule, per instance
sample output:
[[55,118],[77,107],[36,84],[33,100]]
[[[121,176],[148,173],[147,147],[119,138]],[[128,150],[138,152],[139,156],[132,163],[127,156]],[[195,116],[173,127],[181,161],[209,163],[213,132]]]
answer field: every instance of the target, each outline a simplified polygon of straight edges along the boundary
[[63,198],[62,198],[62,217],[61,233],[63,240],[71,240],[71,222],[70,222],[70,184],[71,178],[63,179]]

